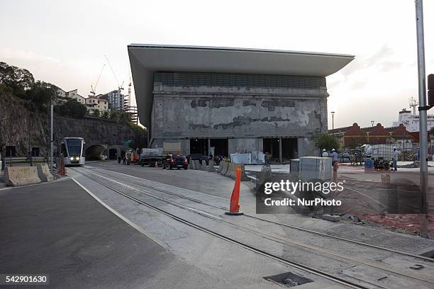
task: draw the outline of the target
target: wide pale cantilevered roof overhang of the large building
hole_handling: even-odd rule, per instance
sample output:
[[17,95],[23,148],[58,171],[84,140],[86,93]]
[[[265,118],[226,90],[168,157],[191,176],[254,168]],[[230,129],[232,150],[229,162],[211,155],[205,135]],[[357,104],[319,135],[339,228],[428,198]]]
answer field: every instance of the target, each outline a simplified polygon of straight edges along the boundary
[[230,47],[128,45],[140,123],[148,126],[153,72],[219,72],[327,77],[354,55]]

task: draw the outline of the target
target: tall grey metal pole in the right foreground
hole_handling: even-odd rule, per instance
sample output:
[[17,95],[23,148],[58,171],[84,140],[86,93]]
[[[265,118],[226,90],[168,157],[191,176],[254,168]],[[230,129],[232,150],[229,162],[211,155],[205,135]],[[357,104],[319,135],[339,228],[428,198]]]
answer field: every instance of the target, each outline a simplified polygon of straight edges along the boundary
[[426,84],[425,84],[425,44],[423,40],[423,0],[416,4],[416,34],[418,41],[418,88],[419,88],[419,147],[421,147],[420,188],[421,188],[421,219],[420,236],[428,235],[428,128],[426,118]]

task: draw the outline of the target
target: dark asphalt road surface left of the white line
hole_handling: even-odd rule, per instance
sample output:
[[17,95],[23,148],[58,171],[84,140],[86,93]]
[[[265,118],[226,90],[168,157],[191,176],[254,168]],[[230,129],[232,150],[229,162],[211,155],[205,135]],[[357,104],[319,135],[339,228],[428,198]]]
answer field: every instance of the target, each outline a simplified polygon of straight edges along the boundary
[[72,180],[0,191],[0,250],[0,273],[49,275],[49,286],[30,288],[226,287],[127,225]]

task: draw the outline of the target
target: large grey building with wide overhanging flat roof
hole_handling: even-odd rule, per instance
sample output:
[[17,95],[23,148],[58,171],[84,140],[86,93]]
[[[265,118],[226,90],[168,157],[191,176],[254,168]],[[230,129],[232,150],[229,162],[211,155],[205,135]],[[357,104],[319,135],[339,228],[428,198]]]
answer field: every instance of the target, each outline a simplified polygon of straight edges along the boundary
[[128,45],[140,123],[150,147],[182,152],[313,155],[327,132],[325,77],[352,55],[226,47]]

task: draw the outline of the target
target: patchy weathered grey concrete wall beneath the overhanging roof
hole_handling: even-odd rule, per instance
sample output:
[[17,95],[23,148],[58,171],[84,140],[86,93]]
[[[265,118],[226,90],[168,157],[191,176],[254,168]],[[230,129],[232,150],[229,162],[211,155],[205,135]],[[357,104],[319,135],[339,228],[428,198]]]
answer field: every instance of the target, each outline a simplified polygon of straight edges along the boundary
[[[262,137],[326,132],[327,91],[217,86],[154,86],[151,140],[233,137],[229,152],[262,150]],[[259,138],[258,138],[259,137]],[[308,140],[299,143],[311,153]],[[305,155],[305,154],[302,154]]]

